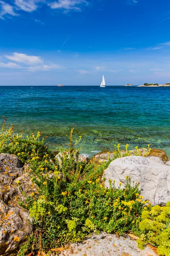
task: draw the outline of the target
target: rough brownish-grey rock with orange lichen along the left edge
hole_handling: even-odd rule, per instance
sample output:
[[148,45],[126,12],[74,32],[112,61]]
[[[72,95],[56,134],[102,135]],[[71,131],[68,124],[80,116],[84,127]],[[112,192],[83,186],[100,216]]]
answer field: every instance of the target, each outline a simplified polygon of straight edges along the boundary
[[0,154],[0,255],[16,253],[20,243],[33,230],[33,218],[19,206],[25,201],[16,181],[27,195],[36,192],[26,172],[28,166],[22,165],[15,155]]

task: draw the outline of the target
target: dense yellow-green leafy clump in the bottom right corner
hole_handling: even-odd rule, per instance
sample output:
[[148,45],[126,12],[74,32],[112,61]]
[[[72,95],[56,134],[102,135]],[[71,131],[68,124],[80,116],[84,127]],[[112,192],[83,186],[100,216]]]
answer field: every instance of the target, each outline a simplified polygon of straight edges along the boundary
[[139,249],[142,250],[145,243],[151,243],[158,247],[159,255],[170,256],[170,201],[165,207],[156,205],[144,210],[141,218]]

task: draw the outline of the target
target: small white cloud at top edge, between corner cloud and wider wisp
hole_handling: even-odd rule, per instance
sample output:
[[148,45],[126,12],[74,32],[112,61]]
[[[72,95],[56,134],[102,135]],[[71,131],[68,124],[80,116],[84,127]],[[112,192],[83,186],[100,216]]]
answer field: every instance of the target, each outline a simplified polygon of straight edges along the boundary
[[38,6],[36,3],[40,2],[40,0],[15,0],[15,5],[25,11],[25,12],[33,12],[37,10]]

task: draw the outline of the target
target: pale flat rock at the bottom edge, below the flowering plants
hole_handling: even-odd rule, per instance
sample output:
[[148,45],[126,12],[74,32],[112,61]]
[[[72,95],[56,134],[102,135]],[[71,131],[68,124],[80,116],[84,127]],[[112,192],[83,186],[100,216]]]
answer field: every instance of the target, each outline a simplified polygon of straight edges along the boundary
[[129,237],[100,233],[83,241],[71,244],[69,250],[62,251],[60,256],[156,256],[152,249],[139,250],[136,241]]

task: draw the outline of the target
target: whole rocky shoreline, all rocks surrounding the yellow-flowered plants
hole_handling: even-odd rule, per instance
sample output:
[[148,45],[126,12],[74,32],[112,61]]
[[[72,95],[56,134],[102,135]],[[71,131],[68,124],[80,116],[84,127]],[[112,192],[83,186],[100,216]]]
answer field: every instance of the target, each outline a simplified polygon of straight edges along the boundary
[[[147,149],[139,149],[140,155],[136,156],[136,151],[129,151],[130,155],[123,157],[126,153],[121,151],[122,157],[117,158],[109,164],[104,171],[105,187],[109,186],[110,179],[116,180],[115,186],[119,188],[125,186],[127,177],[131,177],[135,183],[140,183],[139,188],[142,191],[144,200],[149,200],[153,205],[165,205],[170,199],[170,162],[168,161],[166,152],[159,149],[153,149],[147,155]],[[59,153],[61,154],[61,153]],[[59,154],[56,158],[60,160]],[[94,163],[107,162],[113,158],[113,152],[100,152],[96,154],[91,160],[84,155],[79,155],[79,162],[92,161]],[[23,165],[18,157],[14,154],[0,154],[0,255],[10,256],[16,255],[17,249],[26,237],[34,230],[34,219],[30,218],[28,210],[21,205],[25,204],[25,195],[33,193],[36,195],[37,191],[33,186],[29,175],[29,166]],[[17,186],[20,183],[20,188]],[[148,256],[154,255],[151,249],[147,247],[145,251],[137,249],[136,245],[130,238],[116,238],[115,235],[105,234],[105,239],[102,241],[102,235],[90,237],[84,243],[73,244],[75,253],[72,254],[69,250],[62,252],[63,256],[77,255],[82,256],[88,248],[88,253],[85,255],[92,256],[96,253],[97,248],[100,249],[98,255],[111,255],[107,252],[114,252],[115,256],[119,253],[127,253],[127,247],[132,246],[133,255]],[[107,239],[111,243],[108,244]],[[120,248],[120,241],[122,239],[125,247]],[[114,243],[112,241],[114,240]],[[94,241],[98,241],[94,244]],[[117,245],[114,245],[117,244]],[[131,244],[131,245],[130,245]],[[99,247],[96,247],[99,246]],[[119,250],[117,250],[119,246]],[[81,250],[80,250],[81,249]],[[72,249],[71,249],[72,250]],[[117,252],[117,254],[116,254]],[[53,254],[51,254],[53,255]],[[122,254],[124,255],[124,254]]]

